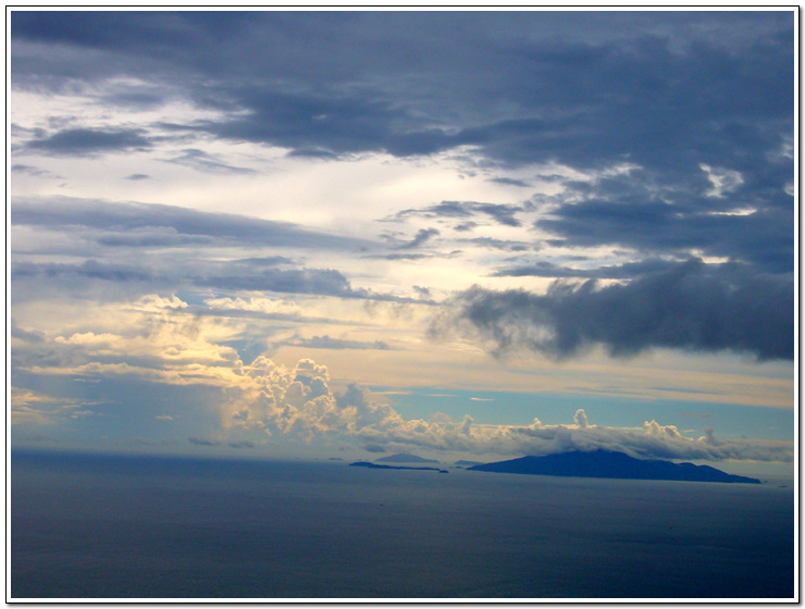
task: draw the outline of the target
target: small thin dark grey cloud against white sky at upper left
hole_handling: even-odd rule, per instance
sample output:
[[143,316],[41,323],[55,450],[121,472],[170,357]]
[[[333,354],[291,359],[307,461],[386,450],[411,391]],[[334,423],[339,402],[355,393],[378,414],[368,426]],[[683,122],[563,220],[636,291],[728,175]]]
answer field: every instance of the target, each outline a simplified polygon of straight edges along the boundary
[[99,152],[145,150],[151,141],[141,129],[64,129],[26,142],[28,150],[59,156],[86,156]]

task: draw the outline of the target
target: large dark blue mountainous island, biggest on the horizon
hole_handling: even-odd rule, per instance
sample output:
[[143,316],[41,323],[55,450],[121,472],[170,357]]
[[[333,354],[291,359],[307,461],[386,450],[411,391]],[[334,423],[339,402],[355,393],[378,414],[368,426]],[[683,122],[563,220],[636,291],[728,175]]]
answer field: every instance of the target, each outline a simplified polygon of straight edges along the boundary
[[467,469],[509,474],[760,484],[759,480],[728,474],[708,465],[635,459],[623,452],[600,449],[590,452],[577,450],[545,457],[522,457]]

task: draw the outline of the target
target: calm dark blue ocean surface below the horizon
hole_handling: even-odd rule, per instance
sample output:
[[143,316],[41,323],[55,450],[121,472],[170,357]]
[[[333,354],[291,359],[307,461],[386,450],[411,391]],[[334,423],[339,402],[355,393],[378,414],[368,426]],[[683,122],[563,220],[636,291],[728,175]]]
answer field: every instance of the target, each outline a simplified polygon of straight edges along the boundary
[[794,596],[777,482],[14,452],[10,489],[14,599]]

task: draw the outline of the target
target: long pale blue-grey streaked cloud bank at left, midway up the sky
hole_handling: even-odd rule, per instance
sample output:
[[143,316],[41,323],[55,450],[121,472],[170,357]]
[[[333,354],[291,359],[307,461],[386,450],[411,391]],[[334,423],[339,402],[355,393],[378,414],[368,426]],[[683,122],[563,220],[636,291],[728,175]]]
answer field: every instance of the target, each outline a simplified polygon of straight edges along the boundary
[[[117,287],[120,295],[131,295],[132,289],[149,294],[153,289],[176,291],[196,287],[224,293],[400,300],[397,296],[356,288],[335,269],[307,268],[282,256],[233,256],[275,249],[359,253],[379,247],[370,240],[287,222],[174,206],[49,197],[14,199],[11,224],[45,231],[70,244],[55,250],[48,239],[38,238],[32,241],[28,258],[15,257],[11,275],[17,301],[52,289],[82,297],[90,294],[90,286],[97,282],[113,284],[112,289],[106,290],[107,297]],[[425,234],[424,239],[430,236]],[[57,251],[64,261],[39,258]]]

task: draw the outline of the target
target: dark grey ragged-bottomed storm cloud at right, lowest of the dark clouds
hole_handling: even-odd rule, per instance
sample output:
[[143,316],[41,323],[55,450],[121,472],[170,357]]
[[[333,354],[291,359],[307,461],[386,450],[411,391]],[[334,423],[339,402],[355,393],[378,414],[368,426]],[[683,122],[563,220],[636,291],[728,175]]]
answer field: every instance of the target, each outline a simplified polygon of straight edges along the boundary
[[524,347],[567,358],[600,344],[614,356],[665,347],[794,357],[793,278],[735,264],[692,260],[626,285],[556,282],[545,295],[476,286],[454,304],[453,314],[434,322],[433,334],[457,325],[496,352]]

